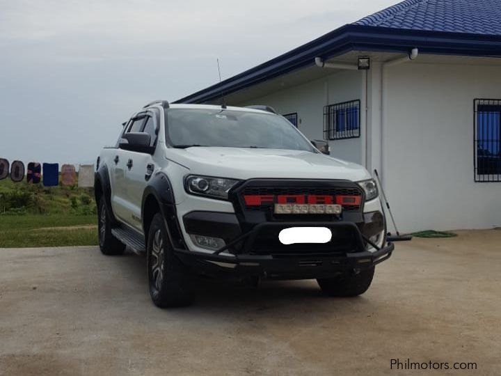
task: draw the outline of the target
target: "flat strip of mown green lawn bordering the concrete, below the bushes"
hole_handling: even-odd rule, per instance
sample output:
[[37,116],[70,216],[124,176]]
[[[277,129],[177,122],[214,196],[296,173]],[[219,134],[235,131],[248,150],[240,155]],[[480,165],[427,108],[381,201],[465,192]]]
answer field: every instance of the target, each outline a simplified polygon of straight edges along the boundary
[[97,245],[96,223],[95,215],[3,215],[0,248]]

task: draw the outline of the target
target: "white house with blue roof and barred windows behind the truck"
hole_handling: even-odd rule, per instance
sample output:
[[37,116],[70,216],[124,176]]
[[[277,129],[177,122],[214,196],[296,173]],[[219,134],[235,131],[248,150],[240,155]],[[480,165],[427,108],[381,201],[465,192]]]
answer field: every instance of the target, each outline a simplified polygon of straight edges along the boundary
[[406,0],[177,102],[274,107],[377,169],[401,231],[501,226],[500,21]]

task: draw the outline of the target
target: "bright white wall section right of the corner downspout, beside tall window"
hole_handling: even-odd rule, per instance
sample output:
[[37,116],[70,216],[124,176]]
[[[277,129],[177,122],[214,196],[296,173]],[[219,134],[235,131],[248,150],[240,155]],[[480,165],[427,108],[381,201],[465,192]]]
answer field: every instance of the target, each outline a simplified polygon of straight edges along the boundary
[[501,99],[501,65],[387,69],[383,173],[399,230],[501,226],[501,183],[473,169],[473,101]]

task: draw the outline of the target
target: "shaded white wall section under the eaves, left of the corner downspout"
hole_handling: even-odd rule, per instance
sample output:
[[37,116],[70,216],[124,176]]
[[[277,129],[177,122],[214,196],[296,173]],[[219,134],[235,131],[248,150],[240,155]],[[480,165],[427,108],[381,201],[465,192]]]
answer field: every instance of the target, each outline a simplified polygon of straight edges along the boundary
[[[358,71],[337,72],[307,84],[286,88],[237,105],[267,104],[279,113],[297,112],[299,130],[308,139],[321,140],[324,139],[324,106],[349,100],[363,100],[362,77],[363,73]],[[362,111],[361,109],[361,116]],[[363,119],[360,123],[363,123]],[[361,164],[362,140],[360,137],[331,141],[331,155]]]

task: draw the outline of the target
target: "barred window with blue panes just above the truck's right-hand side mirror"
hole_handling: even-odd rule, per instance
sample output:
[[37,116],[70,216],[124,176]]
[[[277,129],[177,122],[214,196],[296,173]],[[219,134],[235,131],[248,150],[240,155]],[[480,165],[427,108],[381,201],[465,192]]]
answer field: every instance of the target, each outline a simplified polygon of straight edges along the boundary
[[324,107],[324,139],[339,140],[356,137],[360,137],[360,100]]

